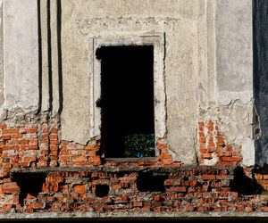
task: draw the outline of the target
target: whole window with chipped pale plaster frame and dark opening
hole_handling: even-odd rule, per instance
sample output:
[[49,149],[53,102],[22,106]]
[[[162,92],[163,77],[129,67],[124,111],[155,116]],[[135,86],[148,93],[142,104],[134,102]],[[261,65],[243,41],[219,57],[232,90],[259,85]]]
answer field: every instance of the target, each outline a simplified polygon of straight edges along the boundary
[[165,134],[161,36],[94,39],[91,136],[105,158],[152,157]]

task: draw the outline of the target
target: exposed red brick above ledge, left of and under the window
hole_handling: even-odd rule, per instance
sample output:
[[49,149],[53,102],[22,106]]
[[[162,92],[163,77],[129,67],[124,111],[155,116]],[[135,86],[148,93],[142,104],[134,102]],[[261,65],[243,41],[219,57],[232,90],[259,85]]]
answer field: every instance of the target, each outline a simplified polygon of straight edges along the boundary
[[[21,125],[8,127],[3,124],[0,132],[0,150],[2,152],[0,165],[3,168],[33,168],[33,167],[84,167],[98,165],[129,165],[130,162],[107,162],[101,159],[97,152],[100,148],[100,138],[88,145],[73,142],[60,142],[57,125],[49,127],[42,125]],[[165,140],[158,139],[156,143],[159,154],[157,161],[136,161],[131,165],[163,165],[180,166],[173,162]],[[6,171],[5,171],[6,172]]]

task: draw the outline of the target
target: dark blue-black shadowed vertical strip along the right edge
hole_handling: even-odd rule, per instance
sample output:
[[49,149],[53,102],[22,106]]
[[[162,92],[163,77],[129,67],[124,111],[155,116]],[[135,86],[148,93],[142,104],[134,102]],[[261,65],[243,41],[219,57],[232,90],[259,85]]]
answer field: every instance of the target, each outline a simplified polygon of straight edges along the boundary
[[[253,0],[255,164],[268,163],[268,1]],[[258,127],[260,123],[260,127]],[[260,129],[259,129],[260,128]]]

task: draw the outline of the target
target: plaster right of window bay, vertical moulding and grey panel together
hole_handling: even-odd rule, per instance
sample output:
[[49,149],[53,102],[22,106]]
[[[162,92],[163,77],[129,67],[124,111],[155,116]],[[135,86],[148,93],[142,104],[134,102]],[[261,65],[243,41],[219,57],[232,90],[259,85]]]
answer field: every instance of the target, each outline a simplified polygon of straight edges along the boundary
[[245,157],[243,164],[251,166],[255,164],[252,2],[217,0],[204,6],[198,19],[198,119],[217,120],[227,142]]

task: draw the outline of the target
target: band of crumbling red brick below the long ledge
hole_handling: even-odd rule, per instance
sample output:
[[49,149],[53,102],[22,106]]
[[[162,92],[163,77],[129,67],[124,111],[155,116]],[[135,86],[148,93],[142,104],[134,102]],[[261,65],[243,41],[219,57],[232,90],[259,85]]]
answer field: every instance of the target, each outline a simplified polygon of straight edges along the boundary
[[[231,187],[233,169],[164,169],[163,192],[138,190],[140,172],[50,171],[41,191],[19,202],[20,187],[1,178],[0,194],[12,195],[0,212],[60,211],[268,211],[256,195],[239,194]],[[163,173],[162,173],[163,175]],[[21,174],[23,177],[23,173]],[[106,186],[105,194],[97,193]]]

